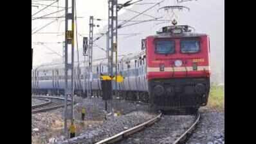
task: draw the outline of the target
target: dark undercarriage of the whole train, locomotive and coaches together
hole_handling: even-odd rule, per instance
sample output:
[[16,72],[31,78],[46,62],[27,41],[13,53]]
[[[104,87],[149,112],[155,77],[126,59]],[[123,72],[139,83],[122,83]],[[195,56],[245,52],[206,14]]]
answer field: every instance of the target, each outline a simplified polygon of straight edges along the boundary
[[[210,92],[210,78],[154,79],[149,81],[149,92],[114,91],[113,99],[149,103],[153,111],[189,109],[196,112],[206,106]],[[36,95],[64,95],[64,90],[33,89]],[[87,91],[75,90],[78,97],[87,97]],[[93,90],[93,97],[102,97],[101,90]]]

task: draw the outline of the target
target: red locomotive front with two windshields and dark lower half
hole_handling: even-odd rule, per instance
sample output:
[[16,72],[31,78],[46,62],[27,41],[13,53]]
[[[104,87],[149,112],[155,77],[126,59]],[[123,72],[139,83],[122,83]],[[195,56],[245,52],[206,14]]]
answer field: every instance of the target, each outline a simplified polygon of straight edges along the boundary
[[151,105],[160,110],[205,106],[210,91],[208,36],[149,36],[146,45]]

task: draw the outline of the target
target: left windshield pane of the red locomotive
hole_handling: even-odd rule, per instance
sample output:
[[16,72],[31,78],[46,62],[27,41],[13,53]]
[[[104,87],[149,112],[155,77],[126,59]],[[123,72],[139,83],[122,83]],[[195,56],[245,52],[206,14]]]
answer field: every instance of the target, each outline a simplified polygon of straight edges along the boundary
[[170,40],[159,40],[156,42],[156,53],[157,54],[172,54],[175,51],[174,41]]

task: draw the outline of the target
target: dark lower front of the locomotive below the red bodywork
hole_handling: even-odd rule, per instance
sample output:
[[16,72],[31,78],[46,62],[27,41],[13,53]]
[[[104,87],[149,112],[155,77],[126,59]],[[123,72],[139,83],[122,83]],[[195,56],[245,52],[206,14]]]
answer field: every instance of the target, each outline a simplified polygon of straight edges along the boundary
[[150,107],[154,110],[197,109],[206,106],[209,78],[154,79],[149,81]]

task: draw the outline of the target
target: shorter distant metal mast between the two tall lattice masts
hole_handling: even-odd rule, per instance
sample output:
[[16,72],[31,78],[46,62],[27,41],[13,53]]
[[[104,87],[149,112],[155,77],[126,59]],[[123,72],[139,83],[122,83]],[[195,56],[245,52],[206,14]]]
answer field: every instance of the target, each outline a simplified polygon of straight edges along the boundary
[[93,81],[93,16],[89,19],[89,95],[92,97],[92,81]]

